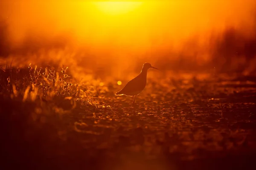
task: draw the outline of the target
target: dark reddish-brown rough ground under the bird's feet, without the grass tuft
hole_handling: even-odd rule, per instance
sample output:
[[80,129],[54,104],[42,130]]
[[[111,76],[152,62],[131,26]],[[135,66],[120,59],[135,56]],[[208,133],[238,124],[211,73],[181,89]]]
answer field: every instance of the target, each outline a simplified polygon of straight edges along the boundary
[[255,77],[149,79],[135,114],[130,97],[113,95],[119,88],[103,86],[67,113],[69,101],[1,97],[1,169],[256,167]]

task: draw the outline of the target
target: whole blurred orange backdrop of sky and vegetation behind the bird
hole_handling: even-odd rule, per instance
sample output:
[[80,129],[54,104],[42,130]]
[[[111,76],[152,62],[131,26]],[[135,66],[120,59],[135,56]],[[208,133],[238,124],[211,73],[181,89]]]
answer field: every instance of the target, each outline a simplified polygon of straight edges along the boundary
[[101,78],[133,77],[144,62],[166,73],[255,74],[255,5],[255,0],[2,0],[0,64],[55,63]]

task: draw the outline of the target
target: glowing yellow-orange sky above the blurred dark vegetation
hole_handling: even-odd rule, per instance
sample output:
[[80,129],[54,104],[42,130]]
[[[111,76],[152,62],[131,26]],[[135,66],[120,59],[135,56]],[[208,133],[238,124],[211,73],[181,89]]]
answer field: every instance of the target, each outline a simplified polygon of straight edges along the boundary
[[95,55],[124,59],[151,50],[179,49],[195,35],[204,45],[212,31],[222,31],[228,25],[247,28],[255,6],[254,0],[137,2],[129,9],[115,3],[100,5],[95,0],[6,0],[0,4],[0,14],[9,23],[12,47],[22,45],[28,33],[37,40],[62,35],[72,37],[74,46],[87,46]]

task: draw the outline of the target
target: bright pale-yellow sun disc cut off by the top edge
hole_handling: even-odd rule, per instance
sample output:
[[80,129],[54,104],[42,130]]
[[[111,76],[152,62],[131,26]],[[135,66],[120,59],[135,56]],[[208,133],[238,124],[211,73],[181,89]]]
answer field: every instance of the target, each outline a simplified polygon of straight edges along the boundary
[[106,14],[125,14],[140,6],[141,2],[94,2],[99,10]]

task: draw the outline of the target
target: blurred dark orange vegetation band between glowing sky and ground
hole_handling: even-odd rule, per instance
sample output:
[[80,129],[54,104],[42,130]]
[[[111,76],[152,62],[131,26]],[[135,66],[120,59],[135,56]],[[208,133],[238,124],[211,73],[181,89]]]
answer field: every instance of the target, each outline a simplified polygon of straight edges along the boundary
[[[14,57],[15,66],[24,65],[31,60],[40,63],[65,63],[73,67],[72,74],[77,71],[87,73],[99,73],[112,75],[116,70],[127,72],[134,68],[139,70],[146,61],[161,68],[162,71],[198,71],[218,73],[243,73],[255,74],[256,67],[256,24],[252,24],[250,34],[242,28],[229,26],[224,31],[209,33],[209,39],[205,45],[198,45],[198,37],[191,36],[184,41],[180,50],[173,48],[151,51],[150,54],[130,56],[131,58],[116,59],[111,51],[102,57],[99,54],[90,53],[90,46],[69,47],[69,37],[57,36],[35,39],[32,35],[26,35],[22,45],[10,48],[8,38],[8,23],[0,23],[0,64],[6,59]],[[124,51],[127,53],[127,51]],[[119,55],[119,54],[117,54]],[[10,58],[11,56],[11,58]],[[20,57],[23,56],[23,57]],[[45,57],[47,56],[47,60]],[[163,62],[164,61],[164,62]],[[121,62],[121,63],[119,63]],[[125,62],[127,63],[125,65]],[[13,63],[14,64],[14,63]],[[125,65],[119,68],[119,65]],[[129,65],[129,66],[128,66]],[[135,70],[135,69],[134,69]]]

